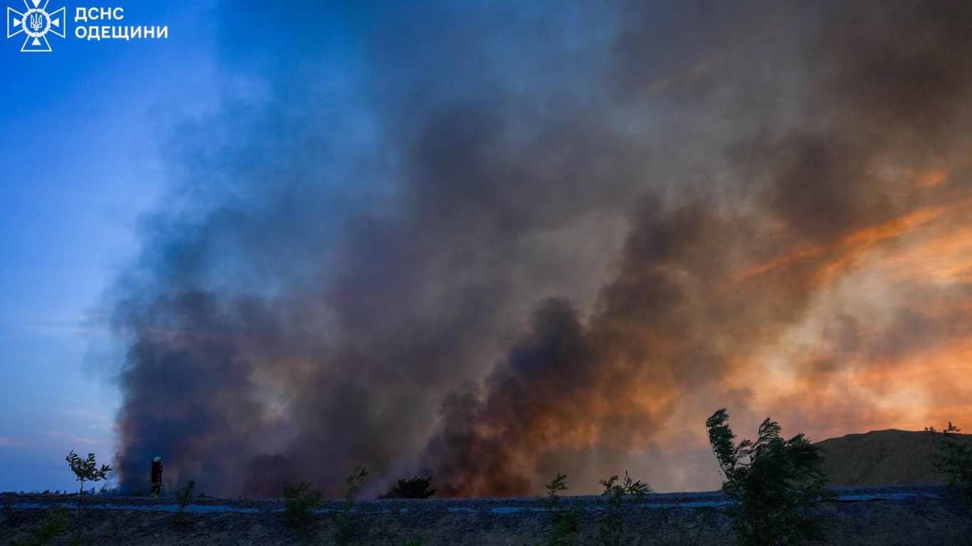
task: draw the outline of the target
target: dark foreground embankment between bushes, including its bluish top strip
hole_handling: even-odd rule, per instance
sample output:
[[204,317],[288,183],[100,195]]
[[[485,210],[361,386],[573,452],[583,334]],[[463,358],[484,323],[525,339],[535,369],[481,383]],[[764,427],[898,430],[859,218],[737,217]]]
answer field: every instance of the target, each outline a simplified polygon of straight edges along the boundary
[[[972,519],[942,486],[838,488],[841,500],[823,508],[826,536],[818,544],[972,544]],[[601,544],[603,514],[596,496],[565,497],[580,509],[572,544]],[[734,544],[718,493],[650,495],[624,511],[626,533],[639,545]],[[52,508],[76,506],[62,495],[0,495],[0,544],[38,534]],[[258,545],[335,544],[341,503],[328,501],[306,531],[283,525],[280,499],[196,498],[185,524],[172,521],[172,497],[90,497],[78,519],[47,544]],[[533,498],[367,500],[351,514],[354,544],[401,546],[545,544],[551,515]],[[80,536],[80,539],[78,538]],[[421,542],[419,542],[421,540]]]

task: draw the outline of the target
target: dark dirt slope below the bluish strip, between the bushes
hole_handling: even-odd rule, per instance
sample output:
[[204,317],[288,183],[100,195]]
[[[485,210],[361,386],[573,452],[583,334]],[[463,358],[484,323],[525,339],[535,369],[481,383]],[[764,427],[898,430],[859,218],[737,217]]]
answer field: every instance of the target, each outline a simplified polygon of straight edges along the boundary
[[[421,502],[421,501],[419,501]],[[0,510],[0,544],[37,534],[50,518],[44,508]],[[972,519],[955,499],[870,500],[831,503],[823,508],[826,535],[817,544],[854,546],[920,546],[970,544]],[[584,512],[571,544],[602,544],[598,512]],[[735,540],[721,508],[633,508],[624,515],[626,536],[635,546],[732,545]],[[398,512],[365,513],[351,520],[353,544],[374,546],[546,544],[551,516],[544,512],[513,514],[447,512],[432,518],[409,518]],[[305,545],[336,544],[334,517],[317,515],[310,529],[283,526],[280,513],[188,514],[177,526],[172,514],[142,510],[75,511],[68,527],[48,542],[52,546]],[[421,540],[421,542],[417,542]],[[409,542],[411,541],[411,542]]]

